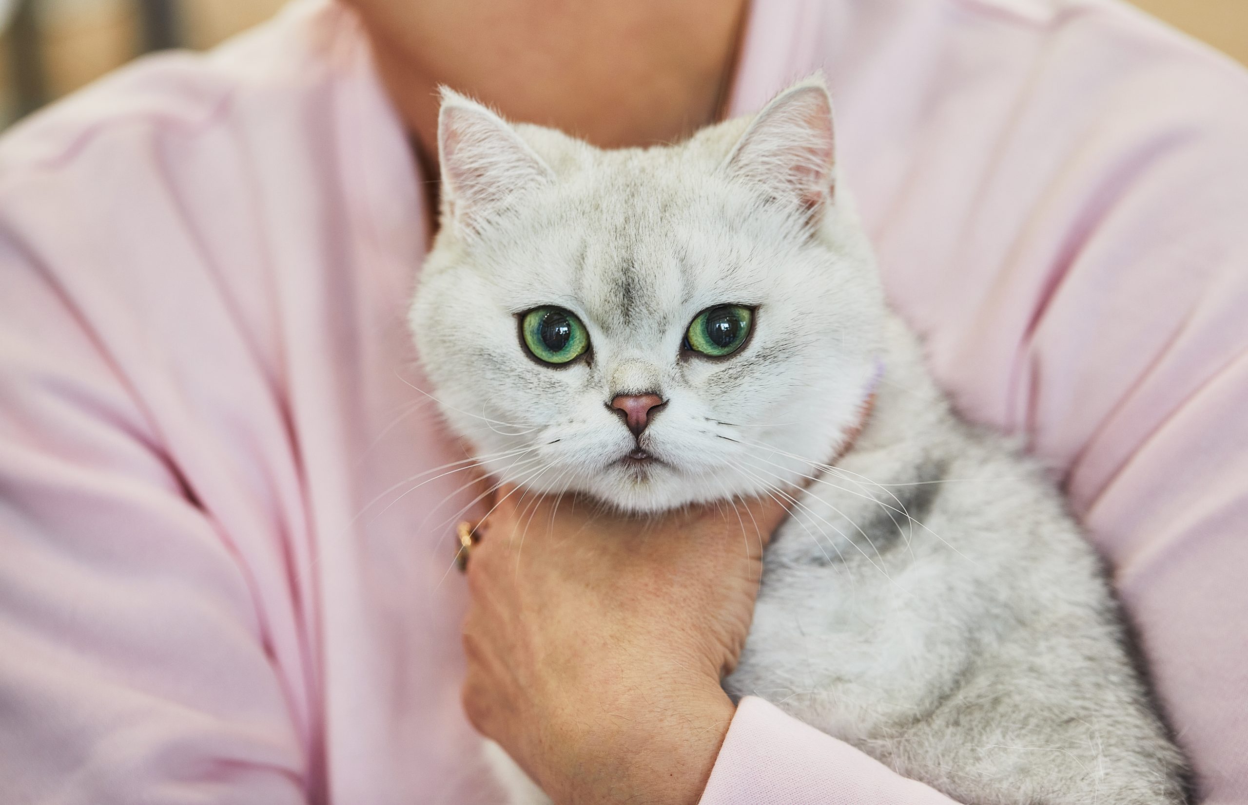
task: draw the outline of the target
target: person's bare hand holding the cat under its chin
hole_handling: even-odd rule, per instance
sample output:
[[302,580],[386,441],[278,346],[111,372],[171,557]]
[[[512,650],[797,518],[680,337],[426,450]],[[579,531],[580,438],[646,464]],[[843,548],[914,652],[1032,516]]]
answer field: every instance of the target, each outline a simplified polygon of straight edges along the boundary
[[468,563],[463,704],[558,804],[696,803],[773,501],[663,517],[504,487]]

